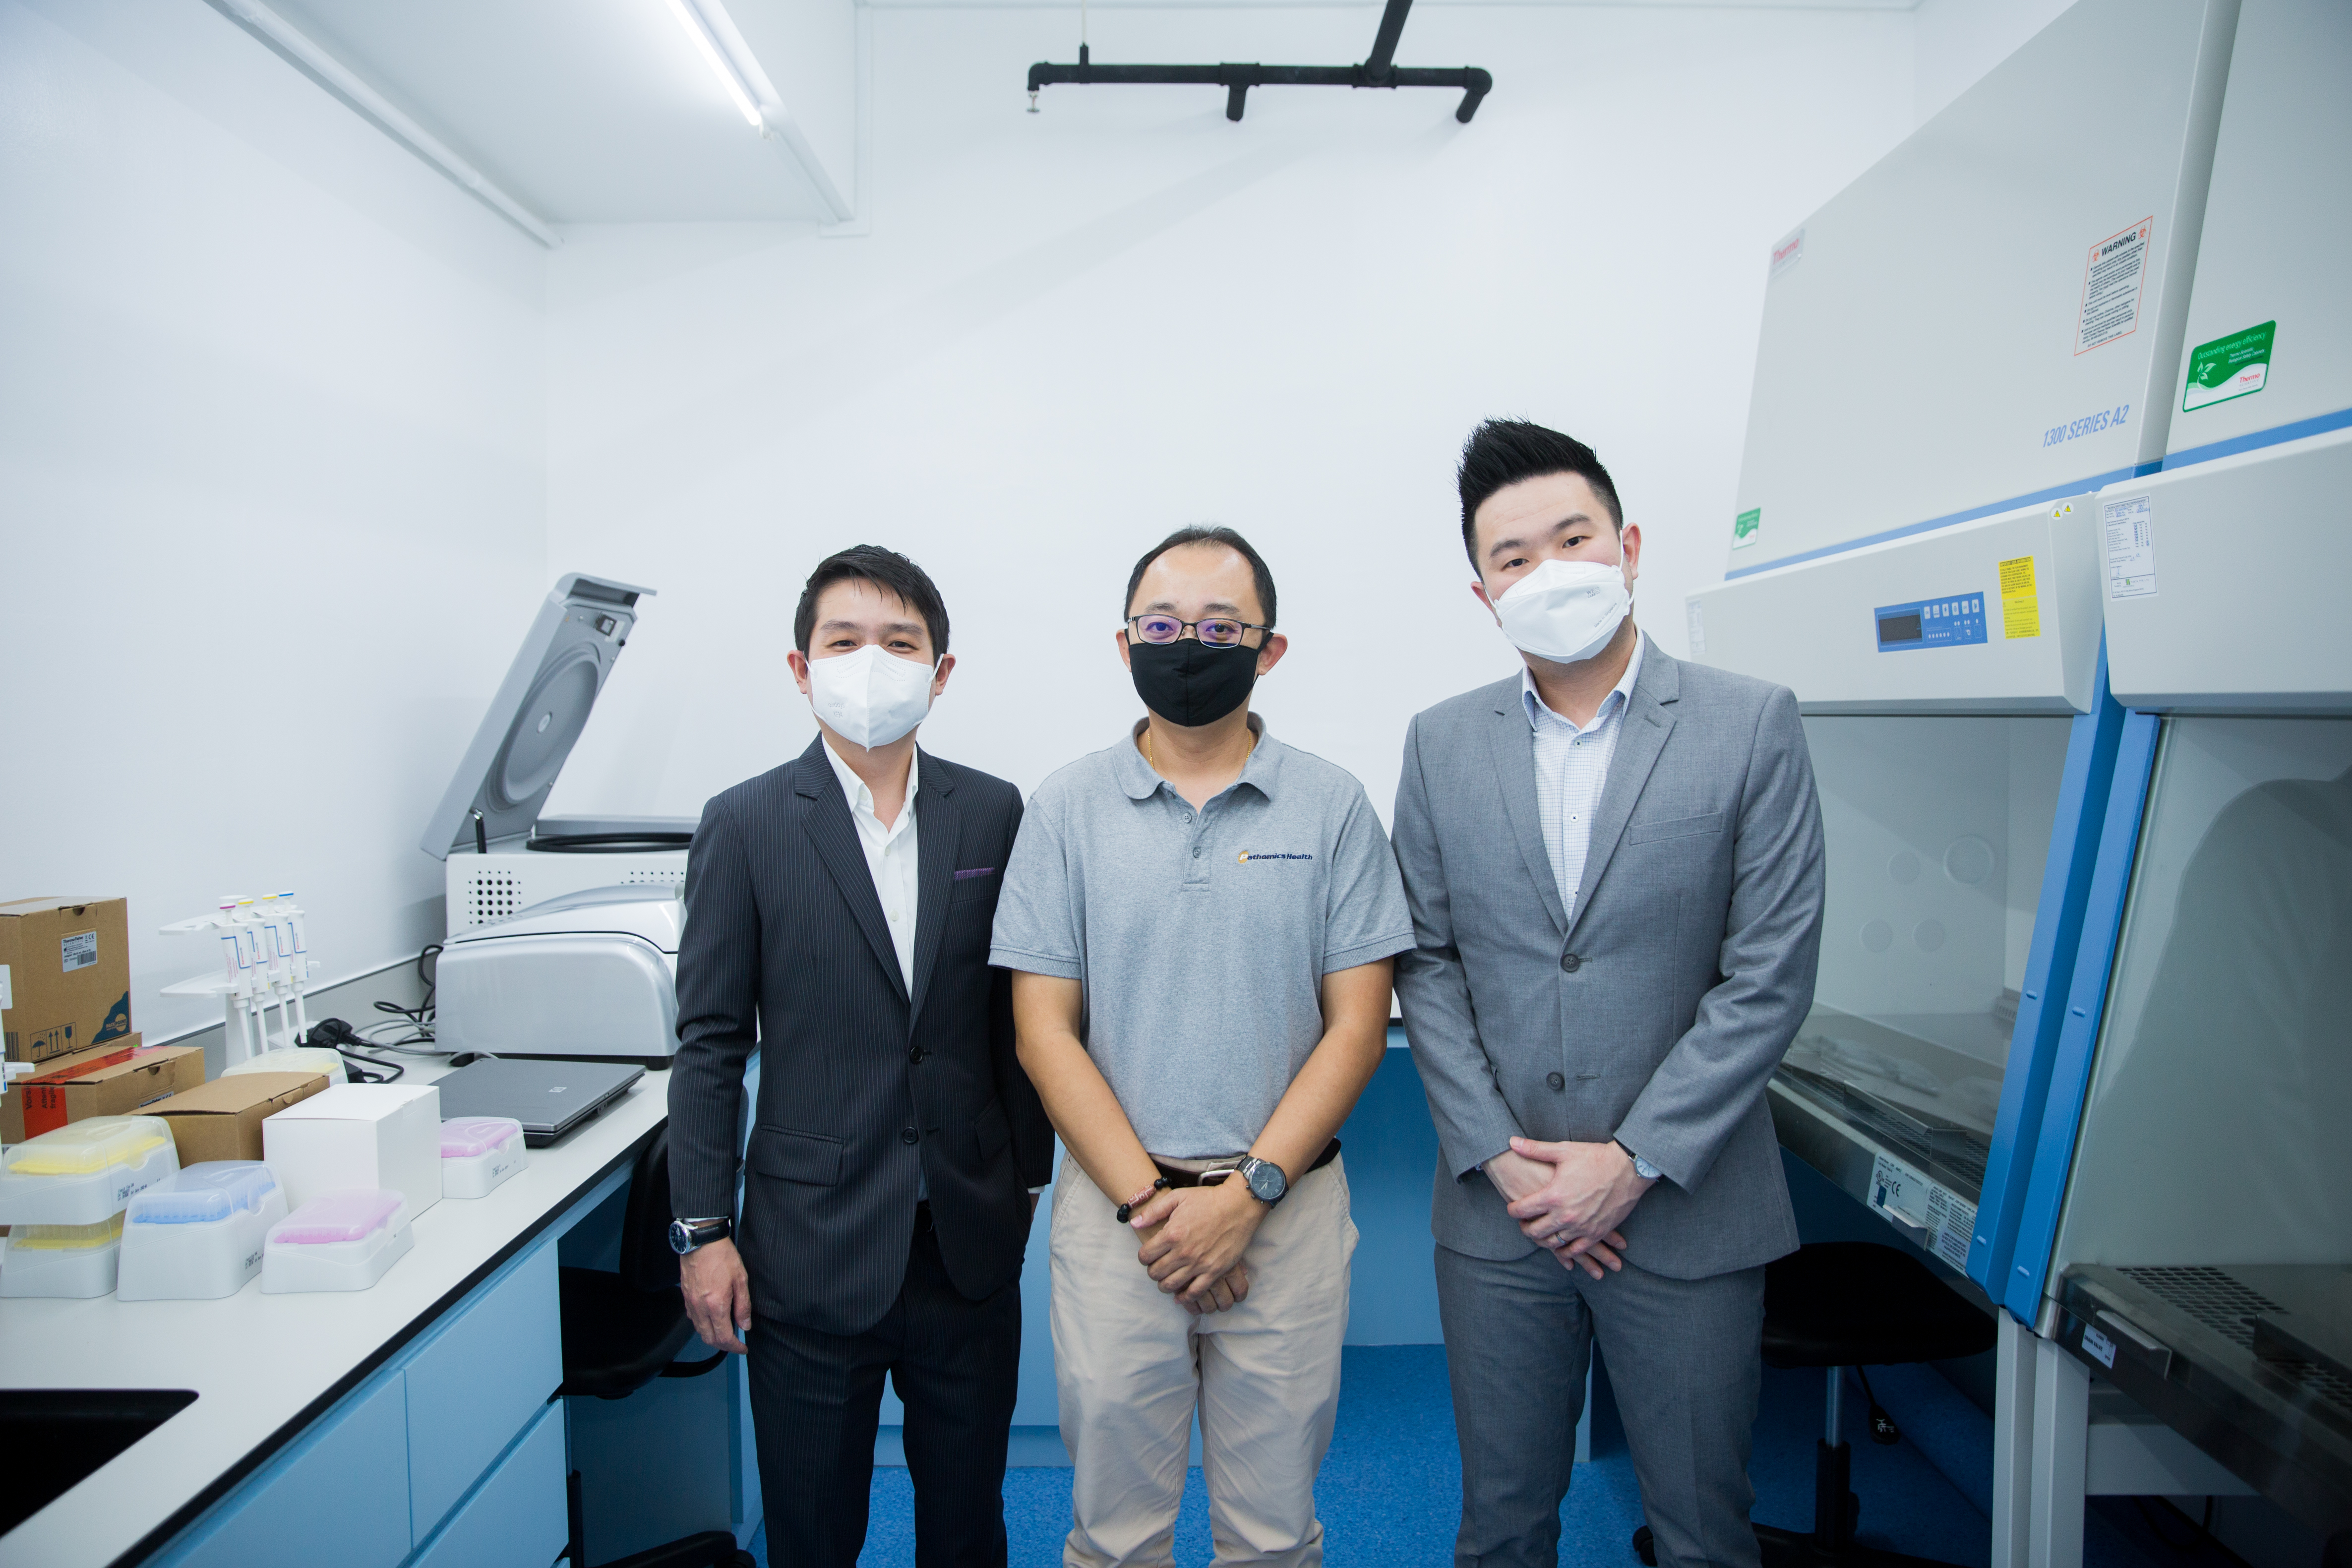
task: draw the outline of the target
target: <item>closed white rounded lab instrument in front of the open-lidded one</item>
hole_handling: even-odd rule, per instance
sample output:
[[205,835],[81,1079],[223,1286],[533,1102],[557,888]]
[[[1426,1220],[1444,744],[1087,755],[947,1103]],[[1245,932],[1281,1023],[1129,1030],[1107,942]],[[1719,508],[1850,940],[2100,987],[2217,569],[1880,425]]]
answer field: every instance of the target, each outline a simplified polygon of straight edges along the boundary
[[612,886],[461,931],[435,971],[435,1044],[666,1067],[677,1051],[684,919],[675,893]]

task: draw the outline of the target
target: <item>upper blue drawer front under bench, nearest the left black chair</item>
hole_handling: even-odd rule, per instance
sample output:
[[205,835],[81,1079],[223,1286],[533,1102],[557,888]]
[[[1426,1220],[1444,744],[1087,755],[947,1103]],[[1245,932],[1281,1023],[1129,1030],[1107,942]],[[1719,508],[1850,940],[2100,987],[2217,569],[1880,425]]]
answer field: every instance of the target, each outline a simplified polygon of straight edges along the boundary
[[564,1380],[555,1248],[475,1291],[409,1361],[416,1540],[466,1495]]

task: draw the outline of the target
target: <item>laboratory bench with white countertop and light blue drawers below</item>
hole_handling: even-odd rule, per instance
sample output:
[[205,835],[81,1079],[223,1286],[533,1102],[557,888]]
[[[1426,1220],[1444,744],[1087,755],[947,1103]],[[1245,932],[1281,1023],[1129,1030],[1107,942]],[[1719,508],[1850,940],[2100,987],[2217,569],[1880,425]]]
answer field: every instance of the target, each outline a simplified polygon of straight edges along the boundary
[[[412,1058],[407,1081],[442,1070]],[[71,1389],[193,1399],[0,1535],[0,1566],[550,1563],[574,1469],[557,1248],[609,1218],[666,1117],[668,1074],[642,1077],[489,1197],[419,1215],[414,1251],[369,1291],[263,1295],[256,1279],[226,1300],[9,1300],[0,1389],[16,1406],[38,1413],[45,1389],[66,1410]],[[703,1382],[736,1394],[727,1371]]]

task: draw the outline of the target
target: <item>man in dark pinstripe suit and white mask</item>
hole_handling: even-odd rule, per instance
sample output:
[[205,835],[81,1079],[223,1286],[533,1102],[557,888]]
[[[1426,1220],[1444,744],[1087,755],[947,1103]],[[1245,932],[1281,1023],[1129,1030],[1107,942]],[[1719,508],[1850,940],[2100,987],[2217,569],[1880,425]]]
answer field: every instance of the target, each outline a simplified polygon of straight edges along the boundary
[[1021,1253],[1054,1159],[1009,978],[988,966],[1021,795],[915,748],[955,668],[915,562],[826,559],[793,639],[821,733],[715,797],[687,860],[670,1070],[687,1312],[710,1345],[748,1340],[769,1563],[856,1563],[887,1373],[915,1561],[1002,1568]]

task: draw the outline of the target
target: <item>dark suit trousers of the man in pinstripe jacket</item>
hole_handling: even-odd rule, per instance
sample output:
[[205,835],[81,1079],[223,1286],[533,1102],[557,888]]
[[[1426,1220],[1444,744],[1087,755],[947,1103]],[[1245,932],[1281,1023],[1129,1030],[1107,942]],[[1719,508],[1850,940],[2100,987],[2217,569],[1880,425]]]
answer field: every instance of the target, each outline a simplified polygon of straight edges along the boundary
[[757,1319],[750,1415],[771,1568],[854,1568],[866,1544],[882,1375],[906,1403],[917,1568],[1004,1568],[1004,1443],[1021,1382],[1021,1281],[967,1300],[922,1206],[882,1321],[837,1335]]

